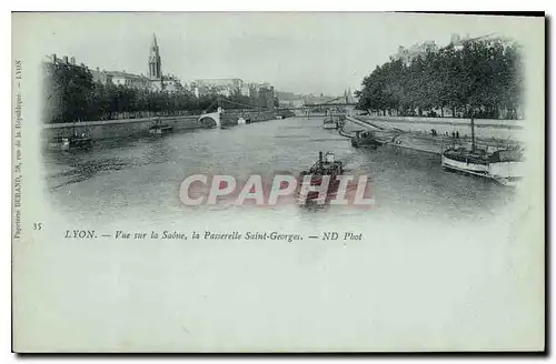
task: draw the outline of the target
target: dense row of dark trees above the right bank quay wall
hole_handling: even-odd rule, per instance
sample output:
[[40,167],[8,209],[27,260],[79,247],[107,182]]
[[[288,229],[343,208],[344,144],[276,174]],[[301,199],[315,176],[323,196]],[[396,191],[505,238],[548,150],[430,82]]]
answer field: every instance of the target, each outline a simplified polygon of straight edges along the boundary
[[474,41],[448,46],[406,64],[400,59],[377,67],[357,91],[358,109],[398,115],[516,119],[523,90],[516,44]]

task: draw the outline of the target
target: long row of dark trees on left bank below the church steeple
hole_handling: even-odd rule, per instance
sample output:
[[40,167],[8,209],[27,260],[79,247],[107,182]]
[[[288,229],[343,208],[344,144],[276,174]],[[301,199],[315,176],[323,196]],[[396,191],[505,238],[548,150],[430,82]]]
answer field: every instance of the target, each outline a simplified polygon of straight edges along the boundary
[[[142,118],[153,115],[198,114],[218,107],[256,107],[258,100],[239,93],[230,97],[200,95],[191,92],[165,92],[93,82],[91,72],[72,64],[44,64],[44,122],[75,122]],[[229,102],[227,102],[229,101]]]

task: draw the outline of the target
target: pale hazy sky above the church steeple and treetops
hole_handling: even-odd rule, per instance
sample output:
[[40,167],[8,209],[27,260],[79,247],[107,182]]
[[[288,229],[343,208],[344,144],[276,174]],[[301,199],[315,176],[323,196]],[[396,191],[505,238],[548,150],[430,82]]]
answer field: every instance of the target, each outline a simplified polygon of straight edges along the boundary
[[[78,63],[147,73],[152,33],[162,73],[182,82],[239,78],[270,82],[279,91],[342,94],[388,61],[398,46],[451,33],[498,33],[519,40],[517,17],[378,12],[103,12],[22,13],[20,32],[42,54],[73,55]],[[24,26],[23,26],[24,24]]]

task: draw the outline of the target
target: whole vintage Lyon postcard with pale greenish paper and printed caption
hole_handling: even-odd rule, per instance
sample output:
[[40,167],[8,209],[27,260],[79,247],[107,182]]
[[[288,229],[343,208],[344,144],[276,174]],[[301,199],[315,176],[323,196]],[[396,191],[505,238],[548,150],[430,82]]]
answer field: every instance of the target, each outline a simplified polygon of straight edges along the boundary
[[545,350],[545,18],[12,14],[17,353]]

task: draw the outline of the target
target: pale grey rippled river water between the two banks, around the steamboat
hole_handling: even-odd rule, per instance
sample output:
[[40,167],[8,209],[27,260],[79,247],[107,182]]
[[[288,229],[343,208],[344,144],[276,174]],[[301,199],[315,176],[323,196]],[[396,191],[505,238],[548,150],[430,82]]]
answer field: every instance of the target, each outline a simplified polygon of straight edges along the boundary
[[332,151],[348,172],[368,175],[376,204],[365,212],[334,206],[341,215],[483,219],[504,209],[515,193],[488,180],[445,172],[438,155],[389,146],[355,149],[321,124],[320,118],[292,118],[158,139],[102,141],[89,151],[48,153],[48,194],[54,210],[75,222],[172,222],[215,210],[219,219],[234,219],[238,209],[242,214],[271,211],[271,216],[304,219],[311,212],[297,205],[188,208],[178,198],[179,186],[193,173],[298,174],[316,161],[319,151]]

